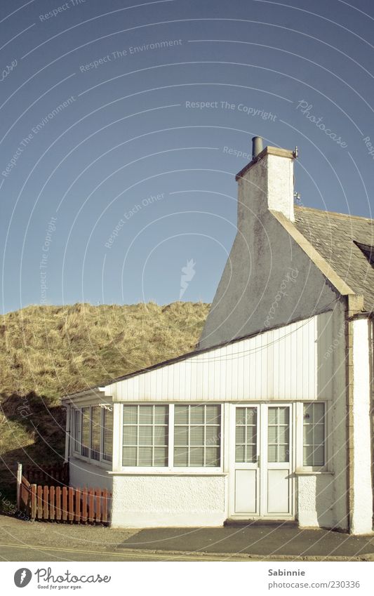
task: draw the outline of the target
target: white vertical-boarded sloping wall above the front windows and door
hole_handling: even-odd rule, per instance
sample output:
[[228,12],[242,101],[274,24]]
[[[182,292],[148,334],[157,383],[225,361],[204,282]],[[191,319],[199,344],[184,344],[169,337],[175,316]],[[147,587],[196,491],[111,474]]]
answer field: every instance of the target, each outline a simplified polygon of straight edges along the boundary
[[[330,399],[333,313],[272,329],[107,385],[117,402]],[[321,395],[322,394],[322,395]]]

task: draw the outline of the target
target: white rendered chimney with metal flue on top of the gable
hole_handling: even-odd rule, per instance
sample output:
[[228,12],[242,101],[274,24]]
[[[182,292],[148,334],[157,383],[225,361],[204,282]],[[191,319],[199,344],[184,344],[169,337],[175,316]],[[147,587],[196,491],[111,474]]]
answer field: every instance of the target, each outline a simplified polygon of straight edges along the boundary
[[251,213],[261,218],[269,211],[295,221],[293,210],[293,160],[297,151],[265,147],[262,138],[252,139],[252,161],[238,174],[238,228],[248,228]]

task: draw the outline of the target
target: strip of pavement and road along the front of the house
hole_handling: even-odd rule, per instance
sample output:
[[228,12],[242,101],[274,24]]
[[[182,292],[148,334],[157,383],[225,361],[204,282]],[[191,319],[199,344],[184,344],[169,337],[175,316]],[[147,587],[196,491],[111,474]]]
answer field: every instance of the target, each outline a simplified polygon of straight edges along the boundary
[[8,561],[374,561],[374,536],[288,524],[114,529],[0,515]]

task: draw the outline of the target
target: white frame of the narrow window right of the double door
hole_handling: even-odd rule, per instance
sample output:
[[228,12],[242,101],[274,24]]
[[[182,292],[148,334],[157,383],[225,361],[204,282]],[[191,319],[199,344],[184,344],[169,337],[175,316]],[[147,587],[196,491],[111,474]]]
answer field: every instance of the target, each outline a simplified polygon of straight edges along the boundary
[[[304,406],[305,404],[323,404],[325,408],[324,413],[324,465],[304,465]],[[329,429],[330,425],[330,402],[323,399],[305,399],[304,402],[296,404],[296,418],[298,424],[296,425],[297,449],[296,449],[296,473],[310,473],[328,472],[330,471],[330,439]]]

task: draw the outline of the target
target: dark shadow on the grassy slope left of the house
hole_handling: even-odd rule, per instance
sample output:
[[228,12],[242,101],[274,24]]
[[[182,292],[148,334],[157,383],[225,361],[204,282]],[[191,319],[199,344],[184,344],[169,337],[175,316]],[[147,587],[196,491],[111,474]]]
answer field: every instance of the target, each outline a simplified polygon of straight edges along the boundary
[[18,462],[42,469],[63,463],[65,420],[65,409],[44,395],[1,395],[0,511],[15,501]]

